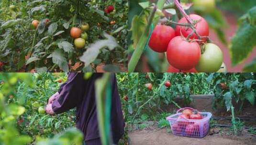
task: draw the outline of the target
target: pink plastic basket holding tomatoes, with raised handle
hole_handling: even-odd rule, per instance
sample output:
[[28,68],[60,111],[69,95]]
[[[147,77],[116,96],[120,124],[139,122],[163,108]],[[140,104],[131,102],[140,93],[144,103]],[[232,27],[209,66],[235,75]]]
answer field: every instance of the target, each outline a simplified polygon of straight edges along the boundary
[[193,108],[186,107],[179,109],[176,114],[168,116],[166,119],[170,123],[172,133],[174,135],[197,138],[202,138],[207,135],[209,131],[211,113],[199,112],[203,119],[185,119],[179,117],[179,115],[182,114],[179,112],[184,109],[191,109],[192,111],[196,111]]

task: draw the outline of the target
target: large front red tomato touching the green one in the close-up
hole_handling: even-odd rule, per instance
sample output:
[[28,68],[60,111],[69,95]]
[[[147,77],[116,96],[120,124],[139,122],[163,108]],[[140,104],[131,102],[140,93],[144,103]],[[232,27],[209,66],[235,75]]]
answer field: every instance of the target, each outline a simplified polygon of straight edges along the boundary
[[181,36],[174,37],[167,47],[167,60],[178,70],[188,71],[194,68],[201,55],[197,42],[188,42]]

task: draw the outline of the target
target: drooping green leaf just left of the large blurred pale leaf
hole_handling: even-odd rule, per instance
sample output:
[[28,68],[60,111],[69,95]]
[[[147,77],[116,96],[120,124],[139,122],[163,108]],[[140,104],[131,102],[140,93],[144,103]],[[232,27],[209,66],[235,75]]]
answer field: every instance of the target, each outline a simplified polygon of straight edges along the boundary
[[57,64],[64,72],[68,72],[67,59],[65,54],[60,49],[56,49],[50,56],[47,58],[53,59],[53,63]]

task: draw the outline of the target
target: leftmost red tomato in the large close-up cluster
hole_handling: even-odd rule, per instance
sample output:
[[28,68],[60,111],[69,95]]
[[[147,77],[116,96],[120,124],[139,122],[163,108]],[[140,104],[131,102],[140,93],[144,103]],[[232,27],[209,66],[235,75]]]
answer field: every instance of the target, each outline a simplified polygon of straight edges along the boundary
[[166,25],[156,25],[152,32],[148,46],[155,52],[166,52],[169,42],[175,37],[172,27]]

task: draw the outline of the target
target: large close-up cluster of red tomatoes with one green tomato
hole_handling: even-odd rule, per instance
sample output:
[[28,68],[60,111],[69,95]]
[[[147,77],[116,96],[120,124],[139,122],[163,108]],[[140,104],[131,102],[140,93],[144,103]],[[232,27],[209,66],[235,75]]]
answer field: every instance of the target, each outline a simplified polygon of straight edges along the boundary
[[[152,32],[149,47],[155,52],[166,52],[169,73],[218,72],[223,64],[223,52],[217,45],[207,43],[210,33],[207,21],[196,14],[190,14],[189,17],[193,20],[195,30],[180,25],[174,30],[170,26],[158,24]],[[178,23],[188,24],[188,21],[183,17]]]

